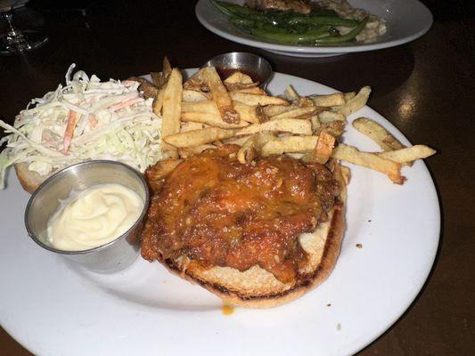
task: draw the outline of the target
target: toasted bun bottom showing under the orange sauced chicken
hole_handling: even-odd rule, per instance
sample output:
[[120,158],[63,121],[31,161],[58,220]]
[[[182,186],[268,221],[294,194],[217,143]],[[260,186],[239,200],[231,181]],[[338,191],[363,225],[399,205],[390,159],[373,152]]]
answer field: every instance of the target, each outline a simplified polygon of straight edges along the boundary
[[311,233],[302,234],[299,242],[307,252],[307,266],[300,271],[298,281],[282,283],[271,272],[253,266],[247,271],[230,267],[205,269],[199,263],[179,258],[161,261],[169,271],[193,283],[198,283],[219,296],[224,303],[249,308],[270,308],[289,303],[327,279],[340,255],[345,233],[345,183],[336,168],[340,182],[340,199],[328,214],[328,221],[320,223]]

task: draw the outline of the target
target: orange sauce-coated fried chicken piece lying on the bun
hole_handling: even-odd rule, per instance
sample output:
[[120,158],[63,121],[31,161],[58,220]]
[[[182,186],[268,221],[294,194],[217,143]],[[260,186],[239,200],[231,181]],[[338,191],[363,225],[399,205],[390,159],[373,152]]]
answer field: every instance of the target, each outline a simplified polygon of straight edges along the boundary
[[314,231],[338,194],[326,167],[284,156],[241,164],[228,145],[187,158],[152,198],[143,231],[148,260],[186,255],[204,267],[258,264],[282,282],[297,278]]

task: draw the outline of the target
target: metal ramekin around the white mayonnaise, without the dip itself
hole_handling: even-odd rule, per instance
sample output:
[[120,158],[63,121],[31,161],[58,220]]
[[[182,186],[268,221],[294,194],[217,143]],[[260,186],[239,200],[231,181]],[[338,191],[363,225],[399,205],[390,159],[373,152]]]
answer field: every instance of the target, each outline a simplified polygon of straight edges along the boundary
[[[60,206],[59,199],[68,198],[72,190],[86,190],[104,183],[122,184],[143,198],[143,211],[134,225],[119,238],[100,247],[83,251],[63,251],[52,247],[46,239],[46,226]],[[140,233],[149,201],[147,183],[134,168],[114,161],[86,161],[53,174],[35,190],[25,211],[25,226],[29,237],[39,246],[79,263],[88,270],[111,273],[125,269],[139,255]]]

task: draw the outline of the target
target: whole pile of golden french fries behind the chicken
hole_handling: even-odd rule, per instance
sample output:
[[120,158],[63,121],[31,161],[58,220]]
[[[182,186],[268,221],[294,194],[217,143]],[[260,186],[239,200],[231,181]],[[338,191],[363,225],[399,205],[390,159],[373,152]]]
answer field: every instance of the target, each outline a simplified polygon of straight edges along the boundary
[[362,152],[340,142],[348,115],[361,109],[371,93],[301,96],[289,85],[282,96],[270,96],[251,77],[236,71],[222,80],[213,67],[200,69],[184,82],[167,59],[163,70],[152,73],[153,111],[162,117],[162,140],[170,159],[162,169],[173,169],[180,159],[225,143],[241,146],[238,159],[250,163],[258,154],[289,154],[325,164],[330,158],[365,166],[402,184],[401,166],[427,158],[436,151],[424,145],[405,147],[370,118],[351,124],[373,139],[381,152]]

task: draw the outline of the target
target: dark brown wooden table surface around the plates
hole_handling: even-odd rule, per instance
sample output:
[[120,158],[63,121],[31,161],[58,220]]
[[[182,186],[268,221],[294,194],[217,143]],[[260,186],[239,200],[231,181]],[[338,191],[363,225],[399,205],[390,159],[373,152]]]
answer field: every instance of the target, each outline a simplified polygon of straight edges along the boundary
[[[437,260],[421,294],[389,331],[359,355],[474,354],[473,5],[426,1],[435,14],[434,25],[411,44],[306,60],[215,36],[201,27],[194,17],[194,2],[186,0],[78,2],[76,7],[86,7],[86,12],[74,5],[64,8],[63,3],[33,2],[17,12],[20,28],[42,28],[50,42],[26,56],[0,57],[0,117],[6,121],[12,122],[30,98],[63,82],[71,62],[102,78],[125,78],[156,69],[165,54],[180,68],[190,68],[218,53],[247,51],[266,56],[276,71],[342,91],[371,85],[373,109],[412,142],[438,150],[426,164],[443,215]],[[30,354],[0,330],[0,354]]]

